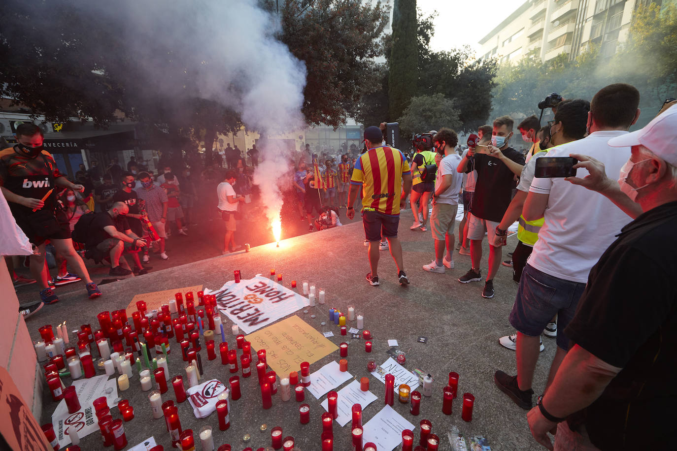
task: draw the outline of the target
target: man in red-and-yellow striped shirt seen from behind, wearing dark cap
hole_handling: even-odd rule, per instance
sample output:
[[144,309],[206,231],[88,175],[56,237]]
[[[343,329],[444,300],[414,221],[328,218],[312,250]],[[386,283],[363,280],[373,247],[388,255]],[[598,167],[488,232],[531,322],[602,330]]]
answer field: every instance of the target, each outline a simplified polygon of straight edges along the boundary
[[[378,243],[380,237],[388,240],[390,253],[397,265],[397,277],[400,285],[409,283],[403,270],[402,245],[397,239],[399,209],[412,189],[412,172],[404,154],[399,149],[382,145],[383,133],[376,126],[364,130],[367,151],[355,162],[348,195],[347,216],[355,217],[353,204],[359,189],[362,188],[362,222],[364,235],[369,241],[369,264],[371,272],[367,281],[371,285],[378,282]],[[404,193],[402,194],[402,181]],[[403,197],[402,197],[403,196]]]

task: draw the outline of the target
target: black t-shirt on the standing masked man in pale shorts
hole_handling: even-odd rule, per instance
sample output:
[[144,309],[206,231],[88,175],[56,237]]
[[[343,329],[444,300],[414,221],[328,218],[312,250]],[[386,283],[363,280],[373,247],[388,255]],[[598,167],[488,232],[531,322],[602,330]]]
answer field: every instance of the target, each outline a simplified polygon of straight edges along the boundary
[[[501,152],[510,160],[524,165],[524,156],[512,147]],[[474,158],[477,184],[473,195],[473,215],[499,222],[510,205],[512,189],[516,186],[515,173],[501,160],[486,153],[475,152]],[[473,166],[468,164],[466,172],[472,170]]]

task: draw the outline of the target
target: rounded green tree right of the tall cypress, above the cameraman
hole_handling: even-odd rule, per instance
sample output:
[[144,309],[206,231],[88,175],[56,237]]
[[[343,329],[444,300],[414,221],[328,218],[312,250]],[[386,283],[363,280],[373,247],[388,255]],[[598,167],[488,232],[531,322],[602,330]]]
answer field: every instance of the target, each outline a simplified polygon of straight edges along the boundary
[[408,136],[442,127],[458,130],[460,126],[454,101],[445,98],[441,93],[413,97],[399,118],[399,128]]

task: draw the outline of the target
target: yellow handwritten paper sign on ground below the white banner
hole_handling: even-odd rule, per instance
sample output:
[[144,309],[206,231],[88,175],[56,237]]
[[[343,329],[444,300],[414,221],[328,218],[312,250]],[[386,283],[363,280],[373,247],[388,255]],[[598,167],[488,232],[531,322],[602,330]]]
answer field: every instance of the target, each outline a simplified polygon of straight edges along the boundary
[[255,350],[265,349],[265,360],[280,377],[299,371],[302,362],[317,362],[339,349],[296,315],[247,335],[246,339]]

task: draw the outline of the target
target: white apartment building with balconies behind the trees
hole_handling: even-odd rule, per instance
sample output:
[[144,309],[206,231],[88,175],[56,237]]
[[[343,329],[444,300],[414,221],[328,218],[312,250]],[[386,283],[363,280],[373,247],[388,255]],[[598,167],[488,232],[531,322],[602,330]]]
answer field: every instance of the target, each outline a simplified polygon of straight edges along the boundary
[[483,37],[482,58],[500,63],[534,55],[546,62],[565,53],[575,59],[590,45],[603,56],[628,38],[632,14],[651,0],[527,0]]

